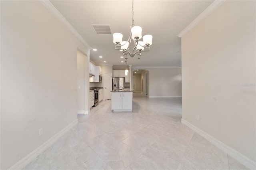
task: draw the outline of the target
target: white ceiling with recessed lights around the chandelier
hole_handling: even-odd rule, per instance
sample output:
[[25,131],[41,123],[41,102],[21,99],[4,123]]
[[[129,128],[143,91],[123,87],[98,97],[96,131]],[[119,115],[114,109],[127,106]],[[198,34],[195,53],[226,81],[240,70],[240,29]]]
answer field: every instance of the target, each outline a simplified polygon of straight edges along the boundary
[[[134,0],[134,22],[142,27],[142,36],[153,36],[150,51],[128,56],[127,65],[181,67],[181,38],[177,35],[214,0]],[[131,0],[50,0],[84,40],[94,63],[125,66],[122,51],[115,49],[115,32],[126,41],[132,24]],[[96,34],[92,24],[110,25],[112,34]],[[100,58],[99,56],[102,56]],[[140,57],[140,59],[138,59]]]

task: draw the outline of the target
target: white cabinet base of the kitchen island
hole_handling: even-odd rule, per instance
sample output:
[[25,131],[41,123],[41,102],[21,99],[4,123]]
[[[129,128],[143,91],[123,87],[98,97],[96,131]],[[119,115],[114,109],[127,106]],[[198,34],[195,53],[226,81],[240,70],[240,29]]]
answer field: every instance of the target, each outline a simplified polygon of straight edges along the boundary
[[132,111],[132,91],[112,91],[111,92],[111,110],[114,112]]

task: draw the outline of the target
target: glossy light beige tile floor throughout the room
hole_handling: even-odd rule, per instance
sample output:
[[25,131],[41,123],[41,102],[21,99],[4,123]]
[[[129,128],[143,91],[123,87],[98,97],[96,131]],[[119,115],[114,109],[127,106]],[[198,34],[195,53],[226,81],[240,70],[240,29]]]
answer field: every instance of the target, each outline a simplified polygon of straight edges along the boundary
[[111,100],[24,170],[242,170],[245,166],[181,121],[181,98],[134,95],[132,113],[113,113]]

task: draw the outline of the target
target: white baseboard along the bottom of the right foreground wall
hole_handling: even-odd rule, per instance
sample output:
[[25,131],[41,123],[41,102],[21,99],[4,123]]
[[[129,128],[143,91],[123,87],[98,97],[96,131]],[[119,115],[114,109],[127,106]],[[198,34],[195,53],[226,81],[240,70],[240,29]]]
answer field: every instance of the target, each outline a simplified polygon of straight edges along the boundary
[[256,169],[256,162],[254,162],[250,158],[247,158],[246,156],[244,156],[240,152],[234,150],[230,146],[224,144],[223,142],[221,142],[220,140],[214,138],[210,134],[204,132],[200,128],[195,127],[194,125],[192,125],[188,121],[186,121],[184,119],[181,119],[181,122],[184,125],[186,125],[189,128],[191,128],[192,130],[194,130],[195,132],[197,132],[198,134],[200,134],[202,137],[206,138],[206,140],[208,140],[209,142],[211,142],[212,144],[214,144],[215,146],[220,148],[223,152],[225,152],[226,154],[232,156],[234,159],[236,159],[238,162],[240,162],[241,164],[243,164],[247,168],[249,168],[251,170],[255,170]]

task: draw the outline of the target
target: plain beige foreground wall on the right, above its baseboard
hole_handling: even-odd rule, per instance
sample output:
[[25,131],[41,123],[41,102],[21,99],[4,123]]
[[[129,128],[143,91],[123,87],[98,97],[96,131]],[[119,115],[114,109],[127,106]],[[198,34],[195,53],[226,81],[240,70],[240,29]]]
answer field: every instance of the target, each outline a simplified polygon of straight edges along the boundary
[[254,162],[255,7],[225,1],[182,37],[182,119]]

